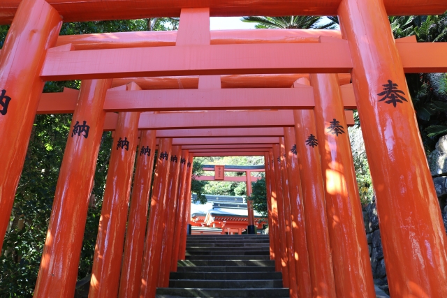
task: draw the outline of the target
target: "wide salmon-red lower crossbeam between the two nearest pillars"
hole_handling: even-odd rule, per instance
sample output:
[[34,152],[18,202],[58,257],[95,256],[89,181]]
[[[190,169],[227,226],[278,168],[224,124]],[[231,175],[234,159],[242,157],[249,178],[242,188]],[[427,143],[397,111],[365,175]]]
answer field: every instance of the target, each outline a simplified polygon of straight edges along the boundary
[[48,52],[41,78],[80,80],[163,75],[349,73],[351,69],[346,42],[265,44],[263,47],[256,44],[177,45]]

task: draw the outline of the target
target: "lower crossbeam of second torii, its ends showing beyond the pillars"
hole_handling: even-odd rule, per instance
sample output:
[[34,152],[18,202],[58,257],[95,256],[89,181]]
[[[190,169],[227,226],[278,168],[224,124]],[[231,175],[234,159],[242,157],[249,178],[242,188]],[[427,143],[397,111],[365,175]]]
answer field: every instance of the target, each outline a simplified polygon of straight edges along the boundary
[[[79,91],[44,93],[38,114],[73,113]],[[342,87],[344,107],[356,109],[352,84]],[[280,98],[280,99],[279,99]],[[115,91],[105,98],[106,112],[196,111],[196,110],[306,110],[313,109],[311,87]]]

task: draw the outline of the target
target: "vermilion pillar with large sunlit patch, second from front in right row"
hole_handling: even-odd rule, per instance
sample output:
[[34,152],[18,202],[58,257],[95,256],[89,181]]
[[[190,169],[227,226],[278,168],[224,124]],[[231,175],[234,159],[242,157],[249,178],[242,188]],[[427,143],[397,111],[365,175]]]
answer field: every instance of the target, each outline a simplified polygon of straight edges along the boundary
[[337,297],[376,297],[338,77],[311,82]]

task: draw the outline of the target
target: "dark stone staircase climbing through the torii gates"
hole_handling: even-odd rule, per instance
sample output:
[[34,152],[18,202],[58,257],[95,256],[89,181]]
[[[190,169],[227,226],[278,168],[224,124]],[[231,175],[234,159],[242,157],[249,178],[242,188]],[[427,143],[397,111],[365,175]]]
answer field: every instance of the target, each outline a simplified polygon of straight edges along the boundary
[[269,254],[268,235],[188,236],[186,260],[156,298],[289,297]]

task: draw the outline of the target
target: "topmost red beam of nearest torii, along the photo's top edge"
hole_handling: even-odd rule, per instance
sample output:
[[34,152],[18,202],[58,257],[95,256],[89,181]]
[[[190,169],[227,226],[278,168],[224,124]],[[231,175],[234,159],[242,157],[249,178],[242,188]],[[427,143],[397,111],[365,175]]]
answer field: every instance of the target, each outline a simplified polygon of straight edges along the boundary
[[[2,2],[0,24],[13,20],[20,0]],[[166,5],[156,0],[48,0],[64,17],[65,22],[141,19],[147,17],[179,17],[182,8],[210,7],[213,17],[240,15],[337,15],[340,0],[174,0]],[[434,15],[444,13],[443,0],[384,0],[388,15]],[[135,9],[138,8],[138,9]]]

